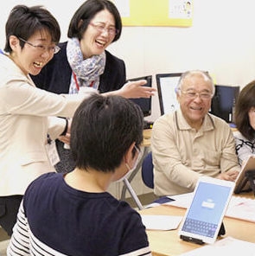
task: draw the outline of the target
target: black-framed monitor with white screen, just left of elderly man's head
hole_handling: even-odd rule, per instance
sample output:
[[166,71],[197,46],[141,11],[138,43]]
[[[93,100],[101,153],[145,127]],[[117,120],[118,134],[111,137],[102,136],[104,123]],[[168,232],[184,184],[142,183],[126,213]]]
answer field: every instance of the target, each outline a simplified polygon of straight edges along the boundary
[[182,73],[156,74],[156,86],[161,115],[179,109],[175,88]]

